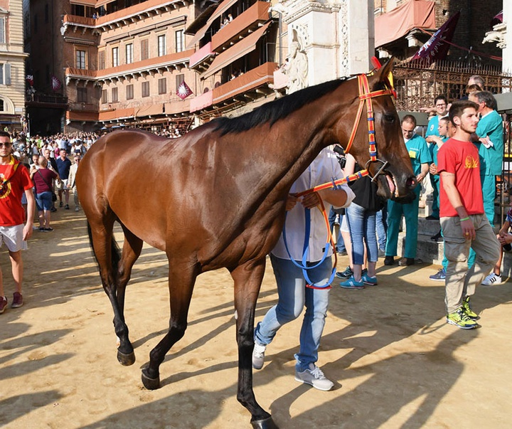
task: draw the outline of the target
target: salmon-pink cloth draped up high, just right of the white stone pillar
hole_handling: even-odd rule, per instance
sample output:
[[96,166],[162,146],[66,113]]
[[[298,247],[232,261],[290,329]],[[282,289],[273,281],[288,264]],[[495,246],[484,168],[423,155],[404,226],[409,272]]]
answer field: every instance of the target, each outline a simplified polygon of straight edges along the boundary
[[398,40],[412,28],[436,28],[434,1],[407,1],[375,18],[375,48]]

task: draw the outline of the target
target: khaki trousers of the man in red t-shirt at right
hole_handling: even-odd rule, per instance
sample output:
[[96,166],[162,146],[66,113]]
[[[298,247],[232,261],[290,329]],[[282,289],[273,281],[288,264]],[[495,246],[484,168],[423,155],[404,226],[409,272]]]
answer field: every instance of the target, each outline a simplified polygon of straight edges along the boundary
[[[464,238],[459,216],[440,219],[444,255],[448,259],[444,299],[448,314],[456,312],[462,306],[465,297],[474,295],[476,285],[480,285],[499,258],[500,243],[487,216],[482,213],[471,215],[469,218],[476,231],[474,240]],[[468,271],[467,259],[470,248],[475,251],[476,260]]]

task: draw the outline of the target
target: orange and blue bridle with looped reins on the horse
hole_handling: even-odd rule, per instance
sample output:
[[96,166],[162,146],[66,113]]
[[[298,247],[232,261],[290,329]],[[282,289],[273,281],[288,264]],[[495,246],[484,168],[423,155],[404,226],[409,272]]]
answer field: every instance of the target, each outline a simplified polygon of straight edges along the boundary
[[[294,196],[300,197],[300,196],[304,196],[307,194],[312,194],[313,192],[316,192],[316,191],[321,191],[322,189],[329,189],[329,188],[338,189],[338,187],[341,184],[347,184],[351,181],[356,181],[357,179],[361,179],[361,177],[364,177],[364,176],[370,176],[371,180],[375,181],[377,179],[377,176],[379,174],[382,174],[385,167],[388,165],[388,161],[382,161],[381,159],[378,159],[378,157],[377,157],[377,144],[375,142],[375,118],[373,117],[372,99],[375,97],[381,97],[383,95],[391,95],[392,97],[396,98],[396,91],[393,89],[393,84],[392,84],[393,78],[390,76],[387,80],[388,89],[378,90],[378,91],[370,91],[370,85],[368,85],[368,75],[366,75],[366,74],[357,75],[357,78],[358,78],[358,90],[359,90],[359,107],[358,107],[356,119],[354,120],[350,138],[348,139],[348,144],[346,146],[345,153],[346,154],[349,153],[349,151],[352,147],[352,144],[354,142],[354,139],[356,139],[357,129],[359,126],[359,122],[361,121],[361,115],[363,114],[363,107],[366,105],[366,113],[367,113],[367,120],[368,120],[368,144],[369,144],[368,150],[370,152],[370,159],[366,163],[365,169],[358,171],[355,174],[351,174],[349,176],[343,177],[342,179],[338,179],[338,180],[333,179],[331,182],[321,184],[319,186],[314,186],[311,189],[307,189],[306,191],[302,191],[297,194],[294,194]],[[380,162],[380,164],[382,164],[374,176],[371,176],[370,171],[368,170],[368,166],[372,162]],[[305,237],[304,237],[303,257],[302,257],[302,261],[301,261],[302,264],[297,263],[292,258],[292,255],[289,253],[288,246],[287,246],[287,240],[286,240],[285,226],[283,226],[284,247],[286,248],[289,258],[292,261],[292,263],[294,263],[294,265],[296,265],[298,268],[302,268],[302,273],[304,275],[304,278],[306,279],[307,287],[311,287],[313,289],[329,289],[331,287],[331,282],[334,280],[334,275],[336,275],[336,265],[338,263],[338,255],[336,254],[336,246],[334,245],[334,239],[332,237],[331,228],[329,226],[329,218],[326,213],[324,202],[320,200],[319,210],[324,215],[324,221],[326,222],[326,228],[328,231],[327,232],[327,245],[326,245],[326,248],[324,251],[324,256],[321,259],[321,261],[314,266],[308,267],[307,263],[306,263],[306,255],[307,255],[308,247],[309,247],[310,213],[309,213],[309,209],[306,208],[305,210],[306,210],[306,233],[305,233]],[[331,248],[333,249],[333,253],[334,253],[334,266],[333,266],[333,270],[331,272],[331,277],[329,278],[329,280],[326,282],[325,285],[316,285],[314,282],[311,282],[311,280],[309,280],[307,270],[316,268],[321,263],[324,262],[324,260],[327,257],[327,254],[329,253],[329,245],[331,245]]]

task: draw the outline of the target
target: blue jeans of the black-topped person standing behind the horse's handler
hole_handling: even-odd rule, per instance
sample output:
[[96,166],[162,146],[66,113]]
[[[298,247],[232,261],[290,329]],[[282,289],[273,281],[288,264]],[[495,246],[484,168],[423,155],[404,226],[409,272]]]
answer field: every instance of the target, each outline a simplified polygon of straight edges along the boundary
[[[352,261],[364,265],[364,246],[369,262],[377,262],[378,247],[375,235],[375,211],[367,210],[356,203],[346,208],[348,229],[351,233]],[[364,241],[363,241],[364,239]]]

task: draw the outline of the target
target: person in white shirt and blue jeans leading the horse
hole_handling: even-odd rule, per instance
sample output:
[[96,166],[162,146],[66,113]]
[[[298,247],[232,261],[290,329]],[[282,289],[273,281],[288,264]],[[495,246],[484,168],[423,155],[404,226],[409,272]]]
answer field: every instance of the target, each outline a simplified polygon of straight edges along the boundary
[[[326,248],[326,226],[324,216],[316,207],[321,201],[326,204],[326,210],[332,206],[346,207],[353,200],[353,192],[346,186],[338,189],[324,189],[323,191],[306,194],[300,200],[294,196],[301,191],[314,186],[341,178],[341,167],[329,149],[323,149],[312,164],[294,182],[287,198],[287,219],[284,233],[270,254],[270,261],[277,282],[278,301],[268,310],[262,322],[255,329],[255,346],[252,351],[252,367],[262,369],[265,350],[274,339],[277,331],[288,322],[297,319],[306,307],[302,329],[300,332],[299,352],[294,355],[295,380],[310,384],[321,391],[329,391],[334,383],[324,376],[316,366],[321,334],[329,304],[329,280],[333,265],[331,261],[332,250]],[[306,235],[306,209],[310,211],[309,234]],[[308,247],[303,255],[304,240]],[[308,267],[309,280],[313,285],[306,285],[303,270],[296,263],[302,260]]]

